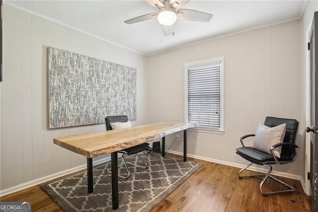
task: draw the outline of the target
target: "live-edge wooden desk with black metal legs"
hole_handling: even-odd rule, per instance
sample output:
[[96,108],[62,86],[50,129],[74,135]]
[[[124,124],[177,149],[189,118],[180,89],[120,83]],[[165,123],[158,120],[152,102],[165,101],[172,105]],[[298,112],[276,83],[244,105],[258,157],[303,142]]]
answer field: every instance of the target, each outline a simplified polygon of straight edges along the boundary
[[118,209],[118,156],[117,151],[162,138],[162,156],[164,156],[165,136],[183,130],[183,160],[187,160],[186,130],[196,123],[159,122],[125,129],[85,133],[54,138],[54,143],[87,158],[88,193],[93,192],[92,158],[111,153],[112,204]]

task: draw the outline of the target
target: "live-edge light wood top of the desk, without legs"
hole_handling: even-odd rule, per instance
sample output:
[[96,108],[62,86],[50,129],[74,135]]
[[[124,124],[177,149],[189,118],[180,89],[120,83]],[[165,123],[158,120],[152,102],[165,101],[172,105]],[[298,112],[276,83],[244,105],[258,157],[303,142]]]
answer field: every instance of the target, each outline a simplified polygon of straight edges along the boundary
[[54,143],[87,158],[126,149],[196,126],[196,123],[159,122],[124,129],[54,138]]

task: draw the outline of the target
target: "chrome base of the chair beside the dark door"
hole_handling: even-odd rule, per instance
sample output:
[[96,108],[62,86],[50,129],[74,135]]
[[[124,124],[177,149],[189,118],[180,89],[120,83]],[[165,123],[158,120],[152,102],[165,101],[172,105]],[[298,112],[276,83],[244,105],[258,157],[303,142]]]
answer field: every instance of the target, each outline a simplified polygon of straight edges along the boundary
[[[277,178],[275,178],[275,177],[273,177],[273,176],[270,175],[270,173],[272,172],[273,168],[272,168],[272,166],[269,165],[269,164],[265,164],[265,165],[269,166],[269,168],[270,168],[269,171],[267,172],[267,174],[261,173],[261,174],[252,174],[252,175],[240,175],[242,171],[244,171],[245,169],[247,169],[247,168],[248,168],[249,166],[251,166],[252,164],[253,164],[253,163],[250,163],[250,164],[248,164],[247,166],[245,166],[244,168],[242,168],[241,170],[239,170],[239,173],[238,173],[238,174],[239,174],[239,179],[242,179],[242,178],[252,178],[252,179],[253,179],[253,177],[264,176],[263,180],[261,181],[261,183],[260,183],[260,185],[259,185],[260,191],[261,191],[261,193],[262,193],[263,195],[268,196],[268,195],[274,195],[274,194],[279,194],[279,193],[294,192],[294,191],[295,191],[294,187],[292,187],[291,185],[289,185],[289,184],[287,184],[287,183],[285,183],[285,182],[283,182],[283,181],[281,181],[281,180],[278,180]],[[277,181],[278,183],[283,184],[284,186],[288,187],[289,189],[287,189],[287,190],[281,190],[281,191],[276,191],[276,192],[264,192],[263,189],[262,189],[262,187],[263,187],[263,184],[264,184],[264,182],[267,180],[268,177],[270,177],[271,179]]]

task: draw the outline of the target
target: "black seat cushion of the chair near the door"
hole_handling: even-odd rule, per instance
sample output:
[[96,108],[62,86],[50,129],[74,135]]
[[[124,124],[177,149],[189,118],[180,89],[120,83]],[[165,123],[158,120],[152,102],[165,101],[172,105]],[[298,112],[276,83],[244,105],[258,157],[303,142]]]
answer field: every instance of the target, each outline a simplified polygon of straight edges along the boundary
[[265,162],[275,162],[274,157],[271,154],[253,149],[249,146],[239,147],[236,150],[237,154],[239,154],[241,157],[259,165],[263,165]]

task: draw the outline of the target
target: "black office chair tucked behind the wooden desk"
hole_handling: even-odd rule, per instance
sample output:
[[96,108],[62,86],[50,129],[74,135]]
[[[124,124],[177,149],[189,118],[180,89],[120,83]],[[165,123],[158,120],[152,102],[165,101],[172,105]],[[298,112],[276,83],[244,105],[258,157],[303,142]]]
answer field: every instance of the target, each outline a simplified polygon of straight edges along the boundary
[[[110,125],[110,123],[112,123],[112,122],[126,122],[126,121],[128,121],[127,115],[107,116],[105,118],[106,130],[112,130],[111,125]],[[119,174],[118,174],[118,176],[121,178],[124,178],[124,179],[127,179],[129,177],[130,171],[129,171],[127,164],[131,164],[131,165],[134,165],[137,167],[147,169],[147,167],[148,167],[147,163],[137,153],[142,152],[144,150],[147,150],[148,148],[149,148],[149,143],[142,143],[142,144],[118,151],[119,153],[122,153],[121,157],[123,160],[123,163],[120,164],[119,166],[125,165],[125,167],[127,169],[127,173],[128,173],[126,176],[119,175]],[[133,154],[137,155],[137,157],[145,164],[145,166],[140,166],[138,164],[126,162],[124,155],[133,155]],[[108,172],[110,172],[110,171],[108,170]]]

